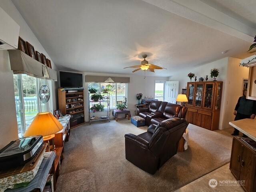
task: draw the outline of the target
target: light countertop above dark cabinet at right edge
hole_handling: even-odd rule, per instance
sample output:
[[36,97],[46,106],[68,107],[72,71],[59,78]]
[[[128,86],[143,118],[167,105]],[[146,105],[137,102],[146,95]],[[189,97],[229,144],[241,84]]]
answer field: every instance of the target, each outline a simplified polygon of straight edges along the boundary
[[256,141],[256,118],[231,121],[229,124]]

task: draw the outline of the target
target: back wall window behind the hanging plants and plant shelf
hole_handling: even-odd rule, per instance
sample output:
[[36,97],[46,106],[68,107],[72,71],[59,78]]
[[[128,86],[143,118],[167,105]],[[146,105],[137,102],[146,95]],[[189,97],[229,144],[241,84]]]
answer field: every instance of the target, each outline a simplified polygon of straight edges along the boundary
[[[101,95],[106,95],[106,93],[103,93],[103,89],[108,84],[114,86],[113,90],[109,92],[110,108],[116,108],[117,101],[123,101],[124,97],[126,97],[126,83],[88,83],[88,88],[95,88]],[[90,107],[93,104],[94,102],[90,102]],[[104,108],[107,108],[107,102],[102,102],[102,105],[104,105]]]

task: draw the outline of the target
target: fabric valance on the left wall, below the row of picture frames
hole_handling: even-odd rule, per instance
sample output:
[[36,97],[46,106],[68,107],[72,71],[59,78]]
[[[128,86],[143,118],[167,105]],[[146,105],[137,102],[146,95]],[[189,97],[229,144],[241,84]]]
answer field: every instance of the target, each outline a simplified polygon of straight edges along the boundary
[[11,70],[14,74],[27,74],[29,76],[57,81],[57,72],[38,62],[20,50],[8,50]]

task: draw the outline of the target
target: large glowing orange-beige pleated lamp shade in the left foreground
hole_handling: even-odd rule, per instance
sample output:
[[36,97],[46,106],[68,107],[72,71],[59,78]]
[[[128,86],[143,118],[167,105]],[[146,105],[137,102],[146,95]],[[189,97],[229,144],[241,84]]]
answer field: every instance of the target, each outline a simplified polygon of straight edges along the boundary
[[50,112],[38,113],[28,130],[26,130],[24,137],[35,135],[49,136],[62,129],[63,126]]

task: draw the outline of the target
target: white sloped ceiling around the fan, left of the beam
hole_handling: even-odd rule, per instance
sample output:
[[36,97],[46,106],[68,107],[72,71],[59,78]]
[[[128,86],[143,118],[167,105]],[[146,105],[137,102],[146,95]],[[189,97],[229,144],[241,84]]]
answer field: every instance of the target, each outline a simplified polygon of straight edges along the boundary
[[150,63],[168,69],[147,75],[171,76],[183,67],[249,56],[250,42],[142,0],[12,1],[59,70],[130,74],[123,68],[140,64],[147,52]]

